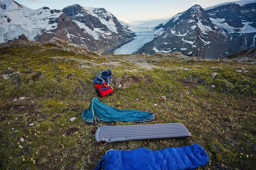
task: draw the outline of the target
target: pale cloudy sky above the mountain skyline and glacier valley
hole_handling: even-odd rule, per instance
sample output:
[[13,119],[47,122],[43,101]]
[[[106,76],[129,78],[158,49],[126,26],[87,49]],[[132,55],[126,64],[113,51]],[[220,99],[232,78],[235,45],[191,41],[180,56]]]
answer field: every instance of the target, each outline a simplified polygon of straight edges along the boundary
[[155,26],[188,10],[193,5],[211,7],[236,0],[15,0],[36,10],[40,7],[62,10],[64,7],[79,4],[82,7],[103,7],[118,20],[135,26]]

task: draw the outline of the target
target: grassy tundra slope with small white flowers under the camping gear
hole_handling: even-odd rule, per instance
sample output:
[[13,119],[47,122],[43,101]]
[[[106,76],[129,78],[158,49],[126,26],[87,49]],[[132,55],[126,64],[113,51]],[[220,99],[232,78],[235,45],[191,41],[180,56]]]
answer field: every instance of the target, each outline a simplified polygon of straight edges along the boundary
[[[0,47],[0,169],[89,170],[109,149],[159,150],[193,143],[209,155],[209,164],[200,170],[256,167],[253,63],[188,61],[181,53],[105,56],[66,42],[18,41]],[[95,75],[108,68],[114,73],[114,94],[99,100],[119,109],[154,112],[156,119],[96,125],[82,120],[82,110],[97,97]],[[173,122],[184,124],[191,137],[94,139],[99,126]]]

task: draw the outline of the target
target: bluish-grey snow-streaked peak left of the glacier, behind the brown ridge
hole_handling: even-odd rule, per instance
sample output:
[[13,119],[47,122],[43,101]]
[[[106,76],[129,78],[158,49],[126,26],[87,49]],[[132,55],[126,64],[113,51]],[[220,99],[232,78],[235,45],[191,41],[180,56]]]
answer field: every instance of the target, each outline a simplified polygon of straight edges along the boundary
[[[92,31],[97,29],[101,31],[101,33],[97,33],[98,39],[91,39],[91,41],[94,42],[93,51],[113,53],[120,44],[124,44],[127,42],[127,39],[132,39],[134,37],[134,33],[122,27],[117,18],[107,12],[104,8],[86,10],[84,7],[75,4],[65,7],[62,12],[72,19],[72,21],[84,24],[87,29]],[[116,30],[109,29],[101,20],[114,23]],[[87,33],[89,31],[84,30],[84,32]]]

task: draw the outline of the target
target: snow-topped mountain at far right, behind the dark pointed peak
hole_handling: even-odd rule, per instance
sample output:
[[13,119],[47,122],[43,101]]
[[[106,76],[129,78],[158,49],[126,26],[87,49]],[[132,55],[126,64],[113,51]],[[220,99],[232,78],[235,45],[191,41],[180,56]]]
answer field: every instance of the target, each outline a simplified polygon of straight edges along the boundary
[[224,3],[205,10],[211,22],[228,35],[224,56],[256,46],[256,0]]

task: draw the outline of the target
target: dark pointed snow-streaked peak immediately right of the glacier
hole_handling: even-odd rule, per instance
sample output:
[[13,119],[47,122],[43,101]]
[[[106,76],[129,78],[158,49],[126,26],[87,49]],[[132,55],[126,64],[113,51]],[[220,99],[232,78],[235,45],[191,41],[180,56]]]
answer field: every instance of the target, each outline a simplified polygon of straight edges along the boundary
[[[164,29],[164,33],[142,47],[138,53],[153,54],[157,52],[152,50],[155,47],[158,51],[181,51],[187,56],[218,58],[219,51],[225,51],[228,46],[221,29],[215,27],[199,5],[177,14],[155,29]],[[216,51],[216,48],[219,50]]]

